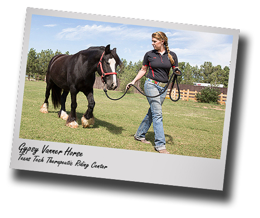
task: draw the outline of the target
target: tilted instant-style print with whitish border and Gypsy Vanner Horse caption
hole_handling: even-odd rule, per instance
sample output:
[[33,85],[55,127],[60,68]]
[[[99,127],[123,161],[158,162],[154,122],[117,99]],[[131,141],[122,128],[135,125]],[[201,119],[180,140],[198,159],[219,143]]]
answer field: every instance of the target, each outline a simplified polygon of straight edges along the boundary
[[28,8],[11,167],[221,190],[238,35]]

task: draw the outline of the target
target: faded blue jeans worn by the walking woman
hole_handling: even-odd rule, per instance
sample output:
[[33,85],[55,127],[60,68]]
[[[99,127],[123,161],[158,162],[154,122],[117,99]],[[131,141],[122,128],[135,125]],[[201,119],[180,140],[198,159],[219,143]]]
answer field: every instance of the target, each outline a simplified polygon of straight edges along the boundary
[[[155,96],[161,93],[164,87],[158,86],[150,81],[145,81],[145,94],[149,96]],[[147,100],[150,104],[150,108],[148,110],[147,115],[144,120],[140,124],[135,137],[143,140],[145,139],[145,134],[148,132],[151,124],[153,123],[153,131],[154,131],[154,143],[155,150],[165,149],[165,136],[162,125],[162,108],[161,105],[166,97],[167,91],[165,91],[162,95],[150,98],[147,97]]]

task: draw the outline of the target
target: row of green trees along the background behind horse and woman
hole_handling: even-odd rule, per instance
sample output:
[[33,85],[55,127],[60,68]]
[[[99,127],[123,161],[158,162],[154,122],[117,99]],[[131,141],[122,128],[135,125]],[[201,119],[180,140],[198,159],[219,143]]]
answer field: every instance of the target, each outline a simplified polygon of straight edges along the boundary
[[[54,53],[51,49],[41,50],[41,52],[37,53],[34,48],[31,48],[28,52],[26,74],[46,75],[51,59],[61,53],[60,50],[56,50]],[[69,51],[66,51],[65,55],[69,55]],[[136,63],[127,63],[125,59],[121,61],[122,68],[118,67],[116,72],[117,77],[121,80],[119,90],[124,91],[126,84],[131,82],[139,73],[143,63],[141,60]],[[210,83],[213,86],[223,84],[225,87],[228,87],[229,67],[227,66],[222,69],[220,65],[214,67],[211,62],[204,62],[198,68],[197,65],[194,67],[189,63],[180,62],[179,68],[183,73],[182,76],[178,76],[180,84],[192,85],[194,82],[200,82]],[[171,74],[172,70],[170,70],[169,75]],[[98,73],[96,73],[96,76],[99,76]],[[145,79],[145,77],[140,79],[140,88],[142,91],[144,91]],[[130,89],[129,91],[133,92],[134,90]]]

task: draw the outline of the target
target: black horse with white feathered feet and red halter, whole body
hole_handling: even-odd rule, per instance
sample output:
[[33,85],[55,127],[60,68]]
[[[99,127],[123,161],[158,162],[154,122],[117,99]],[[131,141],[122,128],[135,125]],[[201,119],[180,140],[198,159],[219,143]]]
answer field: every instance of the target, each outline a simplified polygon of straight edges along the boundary
[[[121,64],[116,48],[110,50],[110,45],[106,47],[90,47],[79,51],[75,55],[57,55],[53,57],[48,66],[45,101],[40,107],[40,112],[48,113],[48,99],[52,90],[54,108],[61,105],[58,117],[67,120],[66,126],[77,128],[76,95],[81,91],[89,101],[88,110],[82,116],[81,124],[84,128],[93,125],[95,72],[98,72],[102,77],[102,82],[106,84],[107,89],[114,90],[117,87],[116,68],[118,65],[121,67]],[[69,92],[71,95],[71,112],[67,115],[65,102]]]

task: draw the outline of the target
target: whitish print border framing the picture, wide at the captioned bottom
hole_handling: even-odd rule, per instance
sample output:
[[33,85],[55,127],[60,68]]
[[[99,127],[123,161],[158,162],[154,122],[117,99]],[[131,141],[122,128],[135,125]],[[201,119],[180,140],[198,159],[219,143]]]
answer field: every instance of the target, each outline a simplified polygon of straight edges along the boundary
[[[19,138],[24,93],[24,79],[26,74],[27,52],[29,46],[30,25],[32,15],[44,15],[233,35],[229,87],[226,102],[221,158],[211,159],[174,154],[162,155],[153,152],[95,147],[88,145],[82,146],[77,144],[45,142]],[[238,37],[239,30],[236,29],[225,29],[188,24],[167,23],[159,21],[148,21],[130,18],[118,18],[110,16],[28,8],[26,13],[19,90],[17,97],[17,108],[14,128],[14,139],[10,167],[12,169],[29,171],[40,171],[105,179],[154,183],[162,185],[223,190],[232,96],[235,79]],[[64,148],[70,147],[73,148],[73,150],[75,151],[82,152],[82,160],[84,160],[85,163],[90,163],[89,169],[84,169],[84,167],[69,167],[65,165],[54,167],[50,164],[32,163],[26,160],[18,160],[20,151],[19,147],[38,147],[41,150],[43,146],[47,144],[52,149],[64,150]],[[45,158],[47,157],[48,156],[46,156]],[[59,160],[61,161],[70,160],[73,162],[76,161],[76,159],[78,159],[78,157],[68,158],[68,156],[65,155],[59,156]],[[164,167],[161,168],[161,166],[158,165],[158,163],[162,163]],[[95,168],[95,165],[101,167],[104,166],[107,168]]]

